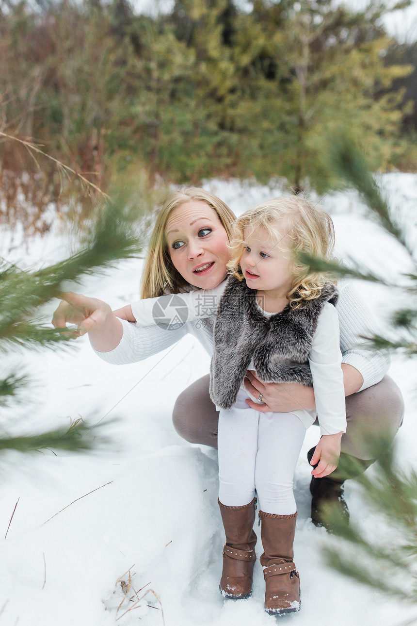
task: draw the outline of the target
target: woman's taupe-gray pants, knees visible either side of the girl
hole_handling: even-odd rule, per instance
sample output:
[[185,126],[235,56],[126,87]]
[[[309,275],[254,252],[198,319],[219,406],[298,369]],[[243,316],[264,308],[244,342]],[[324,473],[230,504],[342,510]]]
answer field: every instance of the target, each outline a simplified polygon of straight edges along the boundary
[[[341,451],[358,459],[370,460],[367,447],[378,434],[392,439],[403,423],[404,402],[393,379],[381,382],[346,398],[348,426],[342,436]],[[209,375],[199,378],[181,393],[174,406],[173,423],[177,433],[190,443],[217,448],[219,413],[209,396]],[[316,421],[317,423],[317,421]]]

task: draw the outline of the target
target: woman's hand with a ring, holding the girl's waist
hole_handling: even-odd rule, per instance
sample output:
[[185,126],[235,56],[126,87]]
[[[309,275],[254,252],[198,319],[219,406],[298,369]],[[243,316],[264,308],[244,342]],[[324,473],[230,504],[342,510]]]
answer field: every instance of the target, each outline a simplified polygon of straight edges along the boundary
[[261,413],[291,413],[296,409],[314,409],[313,387],[304,387],[298,382],[261,382],[248,369],[244,386],[254,398],[259,398],[259,394],[262,394],[264,404],[256,404],[249,398],[246,400],[251,409]]

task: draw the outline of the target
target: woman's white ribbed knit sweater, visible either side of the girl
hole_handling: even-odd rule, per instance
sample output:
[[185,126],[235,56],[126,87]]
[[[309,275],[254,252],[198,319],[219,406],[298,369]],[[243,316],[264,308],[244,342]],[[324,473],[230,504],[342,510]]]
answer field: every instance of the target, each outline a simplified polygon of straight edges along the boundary
[[[377,332],[373,316],[348,281],[341,280],[338,289],[336,310],[339,316],[342,362],[355,367],[361,373],[361,391],[382,379],[389,367],[389,357],[384,352],[369,350],[363,346],[361,336],[366,337]],[[151,307],[151,303],[146,304],[146,307]],[[109,352],[94,350],[108,363],[122,365],[143,361],[172,346],[188,333],[198,339],[210,356],[213,355],[214,317],[207,317],[203,321],[194,319],[174,330],[165,330],[159,326],[140,327],[124,320],[121,323],[123,337],[119,345]]]

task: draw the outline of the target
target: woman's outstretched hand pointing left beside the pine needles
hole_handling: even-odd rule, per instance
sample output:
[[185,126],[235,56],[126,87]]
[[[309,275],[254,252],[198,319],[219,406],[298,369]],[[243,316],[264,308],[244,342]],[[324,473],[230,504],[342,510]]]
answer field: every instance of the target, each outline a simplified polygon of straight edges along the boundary
[[109,352],[118,346],[123,327],[106,302],[71,291],[61,297],[63,301],[52,320],[55,328],[64,328],[68,323],[77,324],[78,329],[69,332],[74,337],[81,337],[88,332],[91,345],[99,352]]

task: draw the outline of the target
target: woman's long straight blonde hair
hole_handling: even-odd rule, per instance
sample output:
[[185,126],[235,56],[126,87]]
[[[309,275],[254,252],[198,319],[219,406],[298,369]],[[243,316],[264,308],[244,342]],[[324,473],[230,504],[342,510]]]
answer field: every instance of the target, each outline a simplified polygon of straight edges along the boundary
[[174,208],[191,200],[201,200],[213,208],[223,224],[230,239],[231,224],[236,219],[231,209],[213,193],[200,187],[188,187],[170,193],[158,213],[148,245],[148,255],[144,264],[141,281],[141,298],[154,298],[168,290],[178,293],[188,285],[178,270],[175,269],[169,256],[168,242],[165,236],[166,223]]

